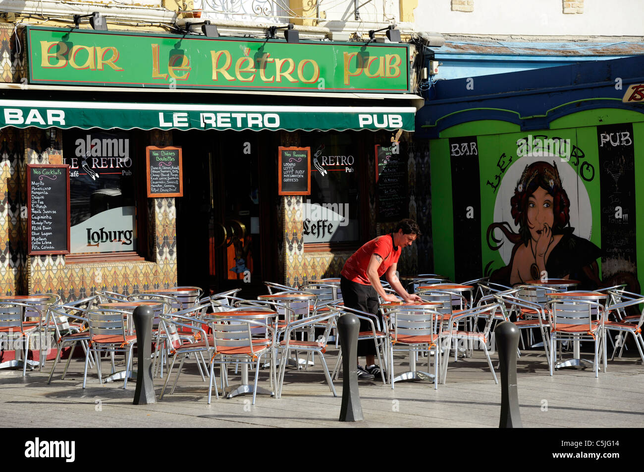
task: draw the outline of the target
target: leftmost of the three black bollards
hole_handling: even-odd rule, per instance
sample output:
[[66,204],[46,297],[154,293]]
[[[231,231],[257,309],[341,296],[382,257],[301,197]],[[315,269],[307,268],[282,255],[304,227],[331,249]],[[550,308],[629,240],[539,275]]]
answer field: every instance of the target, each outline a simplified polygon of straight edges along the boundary
[[138,306],[132,314],[134,318],[134,329],[137,330],[137,389],[134,392],[132,404],[156,403],[155,386],[152,382],[152,320],[155,317],[154,311],[145,305]]

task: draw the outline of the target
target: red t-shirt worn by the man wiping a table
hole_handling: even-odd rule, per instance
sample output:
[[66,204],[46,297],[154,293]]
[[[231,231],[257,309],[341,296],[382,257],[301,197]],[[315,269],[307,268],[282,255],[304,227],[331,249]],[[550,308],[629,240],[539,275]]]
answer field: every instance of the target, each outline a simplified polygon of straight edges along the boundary
[[400,246],[393,246],[392,235],[388,234],[379,236],[367,242],[363,247],[355,251],[355,253],[346,260],[341,274],[352,282],[371,285],[371,282],[366,275],[366,268],[369,266],[369,261],[371,260],[372,255],[377,254],[383,258],[383,262],[378,268],[378,277],[381,277],[387,269],[392,266],[392,264],[398,262],[402,251],[403,250]]

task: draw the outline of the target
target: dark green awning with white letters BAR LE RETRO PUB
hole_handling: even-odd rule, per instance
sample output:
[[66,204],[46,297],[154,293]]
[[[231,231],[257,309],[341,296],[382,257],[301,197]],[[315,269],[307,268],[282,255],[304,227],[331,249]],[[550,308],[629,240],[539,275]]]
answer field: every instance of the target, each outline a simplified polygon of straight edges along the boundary
[[415,107],[0,100],[0,128],[414,130]]

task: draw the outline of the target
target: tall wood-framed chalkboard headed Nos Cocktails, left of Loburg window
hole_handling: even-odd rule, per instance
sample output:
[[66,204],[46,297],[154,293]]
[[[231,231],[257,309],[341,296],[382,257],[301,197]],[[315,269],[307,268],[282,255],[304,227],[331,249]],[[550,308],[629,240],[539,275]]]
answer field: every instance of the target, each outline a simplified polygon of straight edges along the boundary
[[27,166],[29,254],[70,253],[70,166]]

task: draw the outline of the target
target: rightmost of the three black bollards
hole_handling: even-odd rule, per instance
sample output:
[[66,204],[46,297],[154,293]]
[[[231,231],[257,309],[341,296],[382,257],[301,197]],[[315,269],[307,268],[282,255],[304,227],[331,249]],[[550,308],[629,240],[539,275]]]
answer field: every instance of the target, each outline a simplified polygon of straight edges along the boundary
[[514,323],[503,322],[494,330],[497,338],[498,364],[501,374],[501,418],[499,428],[523,428],[516,391],[516,349],[519,330]]

